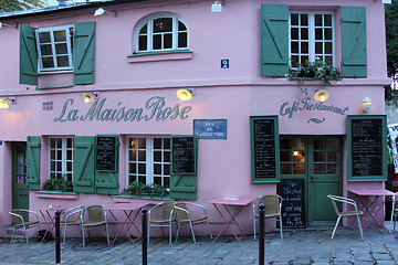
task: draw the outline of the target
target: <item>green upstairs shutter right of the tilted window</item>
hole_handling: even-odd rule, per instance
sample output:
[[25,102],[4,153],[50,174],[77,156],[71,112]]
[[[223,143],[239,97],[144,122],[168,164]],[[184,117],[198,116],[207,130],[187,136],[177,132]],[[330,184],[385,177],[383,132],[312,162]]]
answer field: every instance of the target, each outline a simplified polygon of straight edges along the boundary
[[74,25],[73,83],[94,83],[94,35],[95,22],[80,22]]

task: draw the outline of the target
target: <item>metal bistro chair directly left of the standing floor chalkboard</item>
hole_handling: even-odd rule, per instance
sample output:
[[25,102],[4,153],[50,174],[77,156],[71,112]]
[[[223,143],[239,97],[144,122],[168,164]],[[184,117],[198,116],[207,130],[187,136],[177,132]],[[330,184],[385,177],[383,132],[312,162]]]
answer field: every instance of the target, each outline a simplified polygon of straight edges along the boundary
[[280,222],[281,240],[283,240],[283,227],[282,227],[282,202],[283,198],[277,194],[262,195],[255,199],[253,203],[253,226],[254,226],[254,240],[255,240],[255,221],[260,218],[258,206],[260,203],[265,205],[265,219],[275,219]]

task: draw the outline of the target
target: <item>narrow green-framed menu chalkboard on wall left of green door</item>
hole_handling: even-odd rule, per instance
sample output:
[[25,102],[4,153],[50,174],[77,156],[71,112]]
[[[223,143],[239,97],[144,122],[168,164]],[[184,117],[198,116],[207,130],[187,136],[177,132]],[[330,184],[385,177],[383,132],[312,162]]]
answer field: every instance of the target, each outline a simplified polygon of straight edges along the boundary
[[277,117],[250,117],[252,182],[279,179]]

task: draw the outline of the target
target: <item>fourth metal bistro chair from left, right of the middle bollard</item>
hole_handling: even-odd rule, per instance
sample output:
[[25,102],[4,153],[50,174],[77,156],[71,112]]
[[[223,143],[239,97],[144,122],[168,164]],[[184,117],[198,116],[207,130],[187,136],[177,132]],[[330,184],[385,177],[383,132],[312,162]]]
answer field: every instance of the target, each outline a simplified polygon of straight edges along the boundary
[[[148,243],[150,235],[150,226],[154,226],[160,227],[164,236],[165,232],[163,231],[163,227],[169,227],[169,244],[171,244],[171,224],[176,223],[176,212],[174,211],[175,203],[175,201],[160,202],[148,211]],[[159,219],[154,219],[153,211],[159,208],[161,208],[161,216]]]

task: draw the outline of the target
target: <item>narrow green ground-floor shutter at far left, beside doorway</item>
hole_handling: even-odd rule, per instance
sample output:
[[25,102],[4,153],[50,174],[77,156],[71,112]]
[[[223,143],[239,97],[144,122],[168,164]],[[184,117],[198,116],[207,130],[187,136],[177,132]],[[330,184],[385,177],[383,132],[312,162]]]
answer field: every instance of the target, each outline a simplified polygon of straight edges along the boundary
[[40,189],[40,136],[28,136],[27,184],[30,190]]

